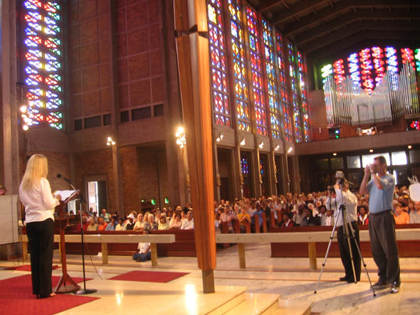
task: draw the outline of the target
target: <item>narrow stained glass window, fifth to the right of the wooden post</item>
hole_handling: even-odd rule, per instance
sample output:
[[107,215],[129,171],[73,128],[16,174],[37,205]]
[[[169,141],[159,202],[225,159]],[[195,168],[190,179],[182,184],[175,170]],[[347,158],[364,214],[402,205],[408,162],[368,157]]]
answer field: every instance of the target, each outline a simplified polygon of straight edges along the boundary
[[275,50],[277,51],[277,73],[279,83],[279,97],[281,103],[281,112],[283,113],[283,120],[281,122],[281,128],[284,131],[285,139],[289,142],[292,141],[292,120],[290,118],[290,97],[288,89],[286,87],[286,68],[285,58],[283,50],[283,36],[277,31],[275,32]]

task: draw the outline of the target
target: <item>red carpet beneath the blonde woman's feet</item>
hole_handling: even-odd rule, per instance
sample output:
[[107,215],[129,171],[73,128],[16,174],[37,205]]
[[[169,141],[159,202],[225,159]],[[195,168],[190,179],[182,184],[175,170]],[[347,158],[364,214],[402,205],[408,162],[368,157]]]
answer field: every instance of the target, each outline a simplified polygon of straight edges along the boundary
[[[53,276],[53,289],[60,277]],[[75,282],[83,282],[83,278],[73,277]],[[31,274],[0,280],[1,315],[49,315],[85,304],[98,297],[83,297],[74,294],[57,294],[56,297],[36,299],[32,294]]]

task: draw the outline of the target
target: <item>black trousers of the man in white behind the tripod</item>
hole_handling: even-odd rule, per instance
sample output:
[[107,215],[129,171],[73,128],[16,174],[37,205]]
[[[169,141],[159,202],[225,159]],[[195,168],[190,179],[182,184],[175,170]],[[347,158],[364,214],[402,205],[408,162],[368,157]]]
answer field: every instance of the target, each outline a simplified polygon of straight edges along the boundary
[[[353,255],[353,262],[355,264],[355,274],[356,280],[360,280],[360,255],[359,251],[356,247],[357,245],[360,248],[360,240],[359,240],[359,225],[357,225],[356,221],[347,224],[347,230],[349,235],[351,235],[350,224],[352,225],[353,231],[355,233],[355,238],[350,238],[350,246],[352,247],[352,255]],[[344,266],[346,272],[347,279],[354,279],[353,275],[353,268],[352,268],[352,259],[350,257],[350,250],[349,250],[349,242],[347,241],[347,237],[345,237],[345,230],[344,226],[339,226],[337,230],[337,242],[338,248],[340,250],[340,257],[342,261],[342,265]]]

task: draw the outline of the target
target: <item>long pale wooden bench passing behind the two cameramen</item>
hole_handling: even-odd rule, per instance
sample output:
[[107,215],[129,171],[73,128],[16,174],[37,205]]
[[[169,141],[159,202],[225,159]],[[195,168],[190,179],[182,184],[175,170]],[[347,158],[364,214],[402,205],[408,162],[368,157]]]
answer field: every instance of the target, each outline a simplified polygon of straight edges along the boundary
[[[397,229],[397,240],[419,240],[420,229]],[[309,254],[309,267],[311,270],[317,269],[316,243],[329,242],[331,231],[320,232],[283,232],[283,233],[255,233],[255,234],[218,234],[218,243],[237,243],[239,267],[246,268],[245,244],[246,243],[286,243],[286,242],[307,242]],[[369,241],[369,231],[361,230],[360,241]],[[337,242],[337,238],[333,238]]]

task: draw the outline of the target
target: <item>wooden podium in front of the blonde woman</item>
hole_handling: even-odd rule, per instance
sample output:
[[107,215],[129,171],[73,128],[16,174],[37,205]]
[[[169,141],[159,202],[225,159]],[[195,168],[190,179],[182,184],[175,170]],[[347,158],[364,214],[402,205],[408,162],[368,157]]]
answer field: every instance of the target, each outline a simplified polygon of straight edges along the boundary
[[64,207],[65,205],[73,200],[75,196],[78,196],[78,191],[75,191],[70,197],[65,199],[65,201],[60,201],[60,204],[56,206],[56,212],[58,213],[58,227],[60,228],[60,249],[61,249],[61,269],[63,270],[63,275],[60,278],[60,281],[57,284],[54,292],[56,293],[70,293],[76,292],[80,289],[80,286],[75,283],[73,279],[67,273],[67,262],[65,260],[65,228],[68,225],[68,218],[64,216]]

